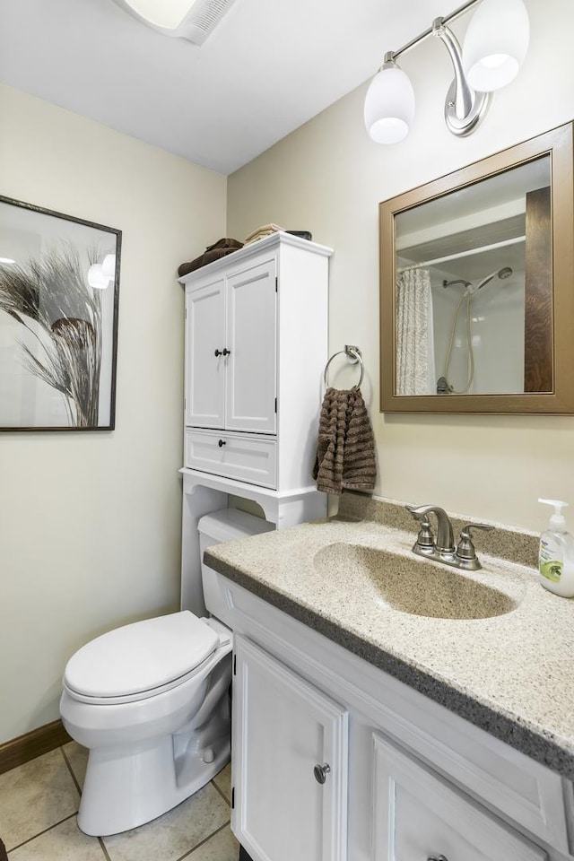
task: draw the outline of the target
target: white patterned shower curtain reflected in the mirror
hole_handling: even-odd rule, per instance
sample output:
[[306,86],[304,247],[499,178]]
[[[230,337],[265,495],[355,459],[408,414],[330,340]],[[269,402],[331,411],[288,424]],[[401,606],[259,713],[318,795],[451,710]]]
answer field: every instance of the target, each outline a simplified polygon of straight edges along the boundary
[[396,394],[435,395],[431,273],[406,269],[396,279]]

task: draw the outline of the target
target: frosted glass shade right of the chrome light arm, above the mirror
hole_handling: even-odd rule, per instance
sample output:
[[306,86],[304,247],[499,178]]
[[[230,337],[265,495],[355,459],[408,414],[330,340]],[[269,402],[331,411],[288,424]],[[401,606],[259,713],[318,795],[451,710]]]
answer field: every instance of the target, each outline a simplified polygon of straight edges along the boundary
[[526,57],[530,24],[522,0],[483,0],[463,44],[466,80],[473,90],[500,90],[517,75]]

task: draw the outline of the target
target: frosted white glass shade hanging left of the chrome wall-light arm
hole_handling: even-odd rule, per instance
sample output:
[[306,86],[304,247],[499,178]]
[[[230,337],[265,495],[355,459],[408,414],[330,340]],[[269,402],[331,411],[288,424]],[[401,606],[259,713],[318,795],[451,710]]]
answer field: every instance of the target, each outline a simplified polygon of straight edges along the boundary
[[385,63],[370,82],[365,98],[365,126],[377,143],[398,143],[414,117],[413,84],[396,63]]

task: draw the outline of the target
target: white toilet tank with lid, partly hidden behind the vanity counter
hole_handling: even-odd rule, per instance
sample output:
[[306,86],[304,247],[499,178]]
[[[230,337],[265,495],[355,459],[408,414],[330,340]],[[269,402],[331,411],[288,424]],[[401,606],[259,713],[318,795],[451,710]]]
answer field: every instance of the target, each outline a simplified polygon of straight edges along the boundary
[[199,551],[201,554],[201,577],[204,585],[204,602],[207,610],[221,618],[225,604],[222,605],[221,594],[217,575],[213,569],[204,564],[204,550],[212,544],[221,544],[223,541],[234,541],[236,538],[245,538],[248,535],[258,535],[262,532],[272,532],[274,523],[269,523],[262,517],[254,517],[247,511],[239,509],[220,509],[205,514],[197,524],[199,532]]

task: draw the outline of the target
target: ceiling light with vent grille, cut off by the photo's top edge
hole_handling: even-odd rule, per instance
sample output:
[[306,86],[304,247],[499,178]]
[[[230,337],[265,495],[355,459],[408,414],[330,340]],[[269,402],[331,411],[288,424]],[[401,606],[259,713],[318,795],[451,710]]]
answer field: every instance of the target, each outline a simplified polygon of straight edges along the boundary
[[235,0],[115,0],[138,21],[163,33],[203,45]]

